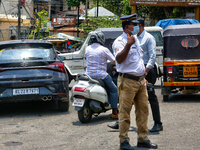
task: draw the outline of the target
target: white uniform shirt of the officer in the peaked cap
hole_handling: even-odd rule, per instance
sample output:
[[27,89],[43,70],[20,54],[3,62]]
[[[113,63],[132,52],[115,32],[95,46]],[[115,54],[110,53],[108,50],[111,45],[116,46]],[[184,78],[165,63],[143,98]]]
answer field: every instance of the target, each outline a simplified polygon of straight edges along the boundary
[[[121,64],[118,64],[116,61],[117,72],[142,76],[145,74],[145,66],[142,59],[143,51],[137,37],[135,35],[134,37],[135,43],[131,46],[127,58]],[[115,57],[124,49],[126,43],[127,34],[123,32],[123,34],[119,36],[112,45]]]

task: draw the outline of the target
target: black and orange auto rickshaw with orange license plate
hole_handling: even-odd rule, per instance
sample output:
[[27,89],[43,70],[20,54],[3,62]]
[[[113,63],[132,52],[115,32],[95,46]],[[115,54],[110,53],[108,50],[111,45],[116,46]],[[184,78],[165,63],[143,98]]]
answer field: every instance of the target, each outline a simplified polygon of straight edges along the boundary
[[200,90],[200,24],[172,25],[163,32],[163,100]]

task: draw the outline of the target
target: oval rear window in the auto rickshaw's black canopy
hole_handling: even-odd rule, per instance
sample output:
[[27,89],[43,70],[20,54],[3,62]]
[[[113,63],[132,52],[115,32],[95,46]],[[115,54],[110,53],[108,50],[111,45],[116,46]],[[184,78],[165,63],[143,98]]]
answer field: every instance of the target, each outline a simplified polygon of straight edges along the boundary
[[199,45],[199,41],[196,38],[191,38],[191,37],[186,37],[181,41],[181,45],[185,47],[186,49],[188,48],[194,48]]

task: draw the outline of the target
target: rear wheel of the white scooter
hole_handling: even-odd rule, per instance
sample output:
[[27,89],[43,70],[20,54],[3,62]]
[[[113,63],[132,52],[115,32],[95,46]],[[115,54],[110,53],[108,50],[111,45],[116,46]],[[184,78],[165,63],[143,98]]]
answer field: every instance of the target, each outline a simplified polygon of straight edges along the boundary
[[92,110],[89,107],[89,103],[86,103],[81,110],[78,111],[79,121],[82,123],[90,122],[92,118]]

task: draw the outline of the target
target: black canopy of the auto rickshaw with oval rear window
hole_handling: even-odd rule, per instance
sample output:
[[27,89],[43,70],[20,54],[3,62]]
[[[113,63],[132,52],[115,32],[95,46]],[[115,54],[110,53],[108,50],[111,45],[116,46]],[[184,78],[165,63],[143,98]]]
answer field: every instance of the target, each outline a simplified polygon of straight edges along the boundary
[[163,32],[164,59],[199,60],[200,24],[172,25]]

